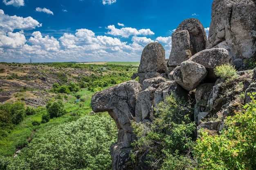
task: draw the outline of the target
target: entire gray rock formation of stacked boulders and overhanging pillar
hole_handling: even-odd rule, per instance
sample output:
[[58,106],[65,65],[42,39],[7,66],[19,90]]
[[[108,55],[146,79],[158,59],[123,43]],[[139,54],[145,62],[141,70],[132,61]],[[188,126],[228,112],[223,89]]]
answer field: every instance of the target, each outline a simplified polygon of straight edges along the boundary
[[[124,82],[94,94],[94,112],[108,111],[119,128],[118,141],[110,148],[114,170],[149,168],[143,161],[145,155],[137,165],[130,161],[130,142],[136,139],[130,121],[151,122],[153,108],[171,92],[177,98],[192,97],[195,109],[191,118],[198,129],[216,132],[225,126],[226,116],[249,102],[247,92],[256,92],[256,70],[244,70],[243,60],[256,52],[255,22],[255,1],[214,0],[207,41],[198,20],[185,20],[172,36],[169,69],[162,45],[150,43],[141,54],[139,82]],[[235,80],[226,81],[213,73],[222,64],[234,64],[242,71]],[[245,94],[245,100],[241,94]]]

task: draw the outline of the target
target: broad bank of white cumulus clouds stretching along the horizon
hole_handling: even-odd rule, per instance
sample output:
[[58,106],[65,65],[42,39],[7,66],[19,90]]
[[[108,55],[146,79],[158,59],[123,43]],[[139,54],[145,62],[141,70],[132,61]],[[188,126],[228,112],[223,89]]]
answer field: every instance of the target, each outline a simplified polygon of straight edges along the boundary
[[40,31],[25,36],[26,30],[40,26],[32,17],[9,16],[0,9],[0,61],[29,62],[30,57],[34,62],[139,61],[144,47],[154,41],[164,46],[166,56],[171,50],[171,37],[152,39],[150,29],[117,29],[114,25],[106,28],[105,35],[81,28],[59,39]]

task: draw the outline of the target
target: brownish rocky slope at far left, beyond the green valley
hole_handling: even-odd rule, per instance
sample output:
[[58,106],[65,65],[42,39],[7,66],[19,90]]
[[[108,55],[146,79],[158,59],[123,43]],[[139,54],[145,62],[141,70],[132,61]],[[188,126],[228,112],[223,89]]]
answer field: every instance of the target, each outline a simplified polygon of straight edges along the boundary
[[79,75],[90,74],[83,69],[55,68],[49,65],[0,63],[0,103],[25,101],[29,106],[45,106],[52,98],[48,90],[54,83],[62,83],[58,73],[67,76],[67,82]]

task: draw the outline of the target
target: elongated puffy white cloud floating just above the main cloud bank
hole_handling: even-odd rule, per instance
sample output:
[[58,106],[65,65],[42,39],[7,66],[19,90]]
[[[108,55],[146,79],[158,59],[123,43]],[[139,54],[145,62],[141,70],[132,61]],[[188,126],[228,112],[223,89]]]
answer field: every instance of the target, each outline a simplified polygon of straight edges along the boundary
[[128,38],[131,35],[154,35],[155,33],[150,29],[140,29],[137,30],[136,28],[124,27],[121,29],[115,28],[115,25],[109,25],[107,27],[108,31],[107,34],[114,35],[114,36],[121,36]]

